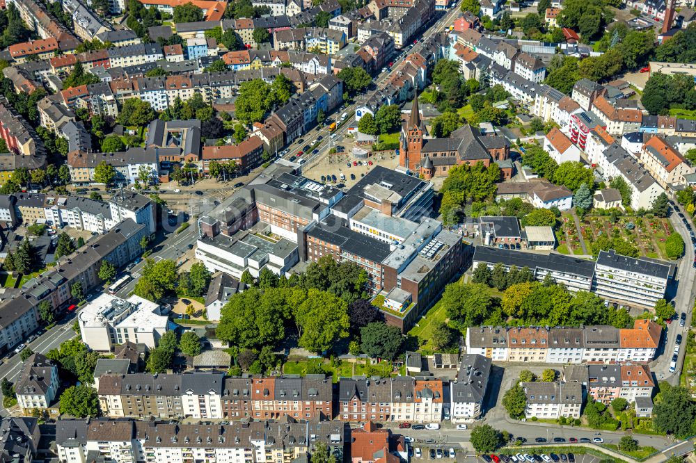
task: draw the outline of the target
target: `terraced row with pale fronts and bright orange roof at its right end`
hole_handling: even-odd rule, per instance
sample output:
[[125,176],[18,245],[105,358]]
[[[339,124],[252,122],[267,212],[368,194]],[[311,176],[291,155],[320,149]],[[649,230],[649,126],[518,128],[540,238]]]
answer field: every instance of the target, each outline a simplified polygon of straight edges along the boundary
[[662,327],[635,320],[633,328],[470,327],[466,353],[498,362],[539,364],[611,364],[649,362],[655,357]]

